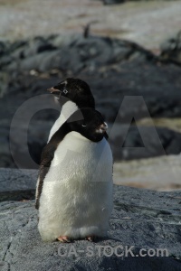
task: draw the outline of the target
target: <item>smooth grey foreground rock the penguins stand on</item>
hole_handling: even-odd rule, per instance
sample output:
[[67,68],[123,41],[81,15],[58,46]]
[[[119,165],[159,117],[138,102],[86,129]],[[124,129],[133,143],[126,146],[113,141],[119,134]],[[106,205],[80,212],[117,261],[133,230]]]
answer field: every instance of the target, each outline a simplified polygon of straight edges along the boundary
[[[1,202],[0,266],[3,271],[120,270],[120,266],[121,270],[129,271],[178,271],[181,260],[179,195],[180,192],[153,192],[115,185],[109,237],[98,243],[86,240],[70,244],[44,243],[37,230],[34,201]],[[100,256],[98,246],[102,246]],[[118,246],[123,249],[117,250]],[[141,248],[146,257],[140,257]],[[158,253],[160,248],[165,249],[163,257]],[[123,257],[118,256],[121,252]],[[156,253],[159,257],[152,257]]]

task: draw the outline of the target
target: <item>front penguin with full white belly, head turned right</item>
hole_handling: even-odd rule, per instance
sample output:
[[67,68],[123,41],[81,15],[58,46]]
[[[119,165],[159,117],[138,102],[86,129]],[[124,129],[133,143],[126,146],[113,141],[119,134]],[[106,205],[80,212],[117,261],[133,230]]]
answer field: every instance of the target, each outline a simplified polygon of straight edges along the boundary
[[107,236],[112,210],[112,153],[98,111],[74,112],[43,149],[36,208],[44,241]]

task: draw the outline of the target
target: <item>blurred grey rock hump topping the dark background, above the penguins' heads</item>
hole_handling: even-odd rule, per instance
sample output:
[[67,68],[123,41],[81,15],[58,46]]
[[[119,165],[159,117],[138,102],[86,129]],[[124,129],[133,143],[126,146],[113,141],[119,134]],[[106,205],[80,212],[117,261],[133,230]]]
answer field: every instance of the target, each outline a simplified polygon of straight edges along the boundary
[[[51,35],[46,38],[35,37],[24,42],[8,44],[6,47],[8,59],[4,52],[1,66],[5,70],[11,71],[34,69],[45,72],[52,69],[70,69],[79,72],[85,68],[90,69],[92,65],[100,67],[102,64],[124,61],[131,57],[135,51],[139,51],[141,56],[143,55],[145,58],[148,55],[154,58],[150,51],[134,42],[96,36],[89,36],[85,39],[78,34],[69,38]],[[48,61],[48,64],[44,65],[43,61]],[[45,66],[45,69],[42,66]]]

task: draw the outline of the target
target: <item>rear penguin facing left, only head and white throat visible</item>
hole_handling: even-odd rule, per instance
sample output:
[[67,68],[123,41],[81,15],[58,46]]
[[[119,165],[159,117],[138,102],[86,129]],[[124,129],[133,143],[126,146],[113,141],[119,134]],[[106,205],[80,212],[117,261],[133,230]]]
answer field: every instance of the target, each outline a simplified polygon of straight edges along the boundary
[[48,137],[49,142],[52,135],[62,126],[65,120],[70,117],[73,112],[81,107],[95,108],[95,101],[89,85],[81,79],[68,78],[47,90],[55,95],[55,98],[58,99],[62,106],[61,115],[55,121],[50,131],[50,135]]

